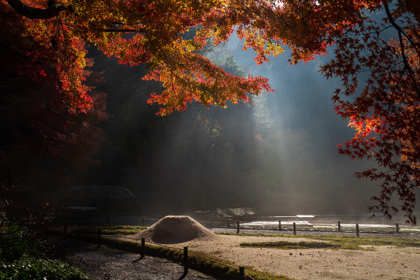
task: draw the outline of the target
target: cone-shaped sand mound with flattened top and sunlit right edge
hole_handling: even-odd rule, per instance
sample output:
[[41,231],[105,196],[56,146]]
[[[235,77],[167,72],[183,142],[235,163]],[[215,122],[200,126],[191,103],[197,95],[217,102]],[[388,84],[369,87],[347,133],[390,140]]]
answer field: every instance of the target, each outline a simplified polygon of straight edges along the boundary
[[159,244],[176,244],[193,239],[207,239],[216,236],[190,216],[166,216],[135,238],[144,237]]

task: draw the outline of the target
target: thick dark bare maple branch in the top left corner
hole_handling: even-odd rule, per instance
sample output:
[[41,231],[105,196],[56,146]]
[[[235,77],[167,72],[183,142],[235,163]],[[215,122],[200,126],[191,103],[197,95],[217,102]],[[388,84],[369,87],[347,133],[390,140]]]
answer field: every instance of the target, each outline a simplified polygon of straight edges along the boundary
[[69,10],[70,6],[60,6],[55,1],[48,1],[48,8],[34,8],[25,5],[20,0],[6,0],[13,10],[23,15],[25,18],[30,20],[47,20],[49,18],[55,18],[63,10]]

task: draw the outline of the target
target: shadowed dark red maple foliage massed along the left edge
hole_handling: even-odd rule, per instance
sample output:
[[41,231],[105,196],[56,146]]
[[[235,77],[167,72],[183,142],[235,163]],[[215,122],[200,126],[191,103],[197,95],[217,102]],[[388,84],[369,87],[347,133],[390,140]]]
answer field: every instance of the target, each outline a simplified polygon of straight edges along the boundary
[[64,180],[67,167],[94,165],[106,96],[92,86],[100,77],[86,68],[85,45],[53,43],[53,25],[22,20],[5,3],[0,22],[1,186]]

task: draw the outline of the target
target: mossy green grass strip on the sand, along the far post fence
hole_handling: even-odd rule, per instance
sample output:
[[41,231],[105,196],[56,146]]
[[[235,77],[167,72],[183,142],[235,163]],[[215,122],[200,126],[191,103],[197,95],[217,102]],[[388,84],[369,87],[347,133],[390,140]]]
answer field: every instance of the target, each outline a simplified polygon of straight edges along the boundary
[[[219,235],[237,235],[233,233],[218,232]],[[335,236],[335,235],[263,235],[263,234],[239,234],[238,236],[260,236],[260,237],[286,237],[286,238],[306,238],[328,241],[328,244],[337,249],[346,250],[372,250],[372,248],[363,248],[362,246],[396,246],[402,247],[420,247],[419,239],[406,238],[388,238],[388,237],[351,237],[351,236]],[[295,246],[299,246],[300,242],[288,242]],[[312,245],[311,243],[319,243],[320,245]],[[255,244],[244,244],[241,246],[258,246],[258,247],[273,247],[273,248],[289,248],[287,244],[279,242],[255,242]],[[301,244],[301,248],[314,248],[311,246],[321,246],[321,242],[306,242]],[[321,248],[321,247],[317,247]]]

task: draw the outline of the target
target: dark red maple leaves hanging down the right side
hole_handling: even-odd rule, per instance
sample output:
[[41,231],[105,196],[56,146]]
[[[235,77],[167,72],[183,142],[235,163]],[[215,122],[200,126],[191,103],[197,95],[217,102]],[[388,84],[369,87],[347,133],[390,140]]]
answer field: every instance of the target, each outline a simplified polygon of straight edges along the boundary
[[[384,2],[358,25],[331,32],[335,58],[321,67],[325,76],[341,79],[343,87],[332,97],[335,111],[356,131],[339,153],[377,162],[377,168],[356,174],[381,182],[370,210],[391,218],[400,207],[410,223],[416,223],[420,186],[418,8],[415,1]],[[393,195],[400,206],[389,204]]]

